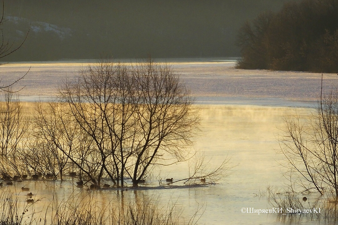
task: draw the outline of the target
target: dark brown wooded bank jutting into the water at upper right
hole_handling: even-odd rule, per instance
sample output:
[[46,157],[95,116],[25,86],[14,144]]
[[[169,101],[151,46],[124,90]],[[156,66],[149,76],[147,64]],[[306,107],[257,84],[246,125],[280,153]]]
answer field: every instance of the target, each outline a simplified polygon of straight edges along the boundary
[[338,1],[285,3],[240,28],[238,68],[338,72]]

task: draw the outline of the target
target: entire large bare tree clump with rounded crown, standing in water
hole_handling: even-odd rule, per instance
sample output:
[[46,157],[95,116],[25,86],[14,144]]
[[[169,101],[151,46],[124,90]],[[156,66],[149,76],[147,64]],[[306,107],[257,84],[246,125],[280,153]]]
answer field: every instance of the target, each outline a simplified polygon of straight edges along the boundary
[[155,162],[166,160],[165,152],[175,162],[186,160],[199,124],[183,83],[151,60],[136,67],[100,62],[66,82],[61,96],[101,154],[98,183],[105,172],[122,187],[125,175],[137,186]]

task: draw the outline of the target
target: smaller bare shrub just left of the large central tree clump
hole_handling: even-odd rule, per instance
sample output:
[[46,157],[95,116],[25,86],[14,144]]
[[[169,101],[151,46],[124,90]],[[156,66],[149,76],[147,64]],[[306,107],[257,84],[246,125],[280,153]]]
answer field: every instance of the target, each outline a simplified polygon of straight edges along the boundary
[[[68,162],[71,161],[76,166],[75,169],[80,170],[80,174],[84,173],[93,179],[99,166],[98,154],[93,149],[93,141],[87,133],[79,129],[78,124],[65,113],[67,105],[54,102],[40,103],[36,112],[34,135],[44,141],[45,150],[48,150],[56,161],[48,164],[53,174],[59,174],[62,180],[63,171],[70,167]],[[55,166],[57,172],[54,172]]]

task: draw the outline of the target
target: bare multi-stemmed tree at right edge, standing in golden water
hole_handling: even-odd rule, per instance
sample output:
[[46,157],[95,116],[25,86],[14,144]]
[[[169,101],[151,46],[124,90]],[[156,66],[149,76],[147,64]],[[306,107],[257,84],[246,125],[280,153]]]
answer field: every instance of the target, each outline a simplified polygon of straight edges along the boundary
[[338,198],[338,90],[321,94],[310,118],[289,117],[286,124],[280,142],[291,183]]

